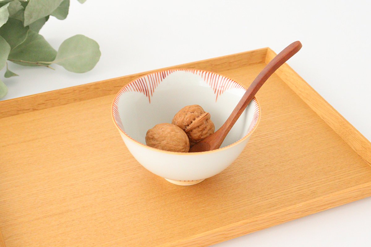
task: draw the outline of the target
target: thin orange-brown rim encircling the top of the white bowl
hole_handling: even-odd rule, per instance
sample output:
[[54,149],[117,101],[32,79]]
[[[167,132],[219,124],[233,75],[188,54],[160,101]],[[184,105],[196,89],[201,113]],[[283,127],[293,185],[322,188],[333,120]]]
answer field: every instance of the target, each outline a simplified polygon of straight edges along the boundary
[[[251,101],[255,100],[256,104],[257,104],[257,111],[259,113],[258,115],[258,119],[256,121],[256,124],[255,126],[244,136],[242,137],[241,139],[235,141],[234,143],[231,143],[229,144],[228,146],[225,146],[225,147],[222,147],[222,148],[218,148],[218,149],[214,149],[214,150],[210,150],[210,151],[203,151],[203,152],[195,152],[195,153],[183,153],[183,152],[174,152],[174,151],[166,151],[166,150],[161,150],[161,149],[158,149],[158,148],[154,148],[154,147],[150,147],[150,146],[147,146],[143,143],[140,143],[139,141],[135,140],[134,138],[132,138],[131,136],[129,136],[124,130],[121,129],[121,127],[118,125],[118,123],[116,122],[115,118],[114,118],[114,103],[116,101],[117,98],[119,98],[122,94],[121,92],[125,89],[125,87],[128,87],[128,85],[130,83],[132,83],[133,81],[135,80],[138,80],[142,77],[145,77],[147,75],[150,75],[150,74],[154,74],[154,73],[159,73],[159,72],[175,72],[175,71],[204,71],[204,72],[209,72],[209,73],[213,73],[213,74],[216,74],[216,75],[220,75],[220,76],[223,76],[223,77],[226,77],[227,79],[230,79],[232,80],[234,83],[237,83],[239,85],[241,85],[243,87],[243,89],[247,90],[247,87],[244,86],[242,83],[236,81],[236,80],[233,80],[232,78],[230,77],[227,77],[227,76],[224,76],[223,74],[219,74],[219,73],[216,73],[216,72],[213,72],[213,71],[208,71],[208,70],[200,70],[200,69],[165,69],[165,70],[157,70],[157,71],[152,71],[150,73],[147,73],[143,76],[139,76],[139,77],[136,77],[134,80],[131,80],[129,81],[127,84],[125,84],[124,87],[122,87],[115,95],[114,97],[114,100],[112,100],[112,103],[111,103],[111,118],[112,118],[112,121],[114,122],[116,128],[118,129],[118,131],[122,134],[124,134],[125,137],[127,137],[129,140],[131,141],[134,141],[134,143],[138,144],[139,146],[142,146],[142,147],[145,147],[145,148],[148,148],[150,150],[153,150],[153,151],[157,151],[157,152],[161,152],[161,153],[168,153],[168,154],[175,154],[175,155],[199,155],[199,154],[208,154],[208,153],[215,153],[215,152],[219,152],[221,150],[226,150],[228,148],[231,148],[233,146],[236,146],[237,144],[241,143],[242,141],[246,140],[247,138],[249,138],[252,133],[256,130],[257,126],[259,125],[260,123],[260,119],[262,118],[262,109],[260,107],[260,103],[259,101],[257,100],[256,97],[254,97]],[[117,112],[118,112],[118,107],[117,107]]]

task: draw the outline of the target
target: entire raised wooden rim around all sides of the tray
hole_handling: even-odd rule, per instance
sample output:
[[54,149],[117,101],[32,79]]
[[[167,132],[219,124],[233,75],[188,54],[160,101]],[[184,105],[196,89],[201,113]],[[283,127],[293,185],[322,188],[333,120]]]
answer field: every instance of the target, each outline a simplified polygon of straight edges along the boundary
[[[27,112],[48,109],[74,102],[94,99],[98,97],[114,95],[125,84],[144,74],[166,69],[203,69],[218,72],[223,70],[228,63],[230,70],[253,64],[268,63],[276,53],[270,49],[262,48],[227,56],[215,57],[176,66],[140,72],[113,79],[96,81],[79,86],[47,91],[0,101],[0,119],[11,117]],[[224,65],[223,65],[224,64]],[[225,70],[225,69],[224,69]],[[367,140],[354,126],[352,126],[341,114],[338,113],[322,96],[320,96],[309,84],[303,80],[288,64],[283,64],[275,74],[284,81],[332,130],[338,134],[362,159],[371,166],[371,142]],[[275,210],[249,220],[237,221],[235,223],[216,228],[204,233],[196,234],[164,246],[209,246],[209,244],[220,243],[235,237],[243,236],[254,231],[270,226],[275,226],[299,217],[307,216],[319,211],[340,206],[355,200],[371,196],[371,182],[347,189],[336,191],[313,200],[305,201],[289,207]],[[323,201],[326,200],[326,204]],[[294,212],[294,213],[293,213]],[[266,216],[276,215],[276,220],[267,220]],[[285,219],[282,220],[282,217]],[[207,244],[205,244],[207,240]],[[1,234],[0,247],[6,247]]]

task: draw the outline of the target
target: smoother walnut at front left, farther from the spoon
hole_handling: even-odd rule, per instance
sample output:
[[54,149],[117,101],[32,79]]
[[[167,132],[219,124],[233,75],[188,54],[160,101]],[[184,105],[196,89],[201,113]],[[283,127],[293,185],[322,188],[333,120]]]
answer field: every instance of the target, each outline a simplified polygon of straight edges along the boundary
[[189,150],[187,134],[178,126],[170,123],[156,124],[147,131],[145,136],[147,146],[166,151],[184,152]]

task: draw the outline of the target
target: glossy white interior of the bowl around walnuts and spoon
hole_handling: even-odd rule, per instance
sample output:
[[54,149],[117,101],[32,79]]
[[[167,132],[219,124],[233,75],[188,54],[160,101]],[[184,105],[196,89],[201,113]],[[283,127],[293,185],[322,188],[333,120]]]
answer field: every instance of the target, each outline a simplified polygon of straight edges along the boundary
[[[116,124],[131,138],[145,144],[147,130],[171,123],[184,106],[198,104],[211,114],[217,130],[246,89],[227,77],[202,70],[167,70],[140,77],[127,84],[113,104]],[[221,147],[228,146],[253,128],[257,101],[251,101]]]

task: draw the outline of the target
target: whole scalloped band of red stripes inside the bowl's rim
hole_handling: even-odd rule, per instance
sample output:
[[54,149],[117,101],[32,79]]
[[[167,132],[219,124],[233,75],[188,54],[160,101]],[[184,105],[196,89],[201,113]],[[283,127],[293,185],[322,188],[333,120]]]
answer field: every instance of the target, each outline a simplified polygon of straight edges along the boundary
[[[215,101],[217,101],[218,96],[223,94],[226,90],[246,89],[244,86],[242,86],[238,82],[232,79],[229,79],[227,77],[221,76],[220,74],[216,74],[210,71],[196,70],[196,69],[165,70],[165,71],[159,71],[159,72],[152,73],[150,75],[139,77],[138,79],[126,84],[116,95],[114,102],[112,103],[112,115],[114,117],[114,120],[116,121],[119,129],[122,132],[124,132],[128,137],[130,136],[123,129],[124,125],[122,124],[120,114],[118,111],[118,102],[120,100],[121,95],[127,92],[133,92],[133,91],[138,92],[138,93],[143,93],[144,96],[148,97],[149,103],[151,103],[151,97],[153,96],[154,90],[156,89],[158,84],[160,84],[162,80],[164,80],[168,75],[172,74],[175,71],[186,71],[186,72],[191,72],[193,74],[197,74],[201,76],[203,80],[206,81],[206,83],[211,87],[211,89],[214,90],[214,94],[216,94]],[[245,136],[249,135],[250,132],[254,129],[254,127],[256,126],[259,120],[259,116],[260,116],[259,103],[254,99],[252,100],[252,102],[254,103],[255,112],[254,112],[253,119],[249,126],[249,132]],[[133,138],[131,139],[134,140]]]

